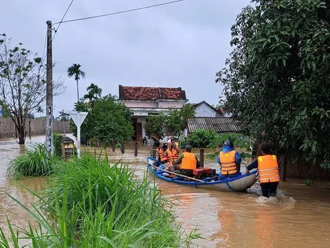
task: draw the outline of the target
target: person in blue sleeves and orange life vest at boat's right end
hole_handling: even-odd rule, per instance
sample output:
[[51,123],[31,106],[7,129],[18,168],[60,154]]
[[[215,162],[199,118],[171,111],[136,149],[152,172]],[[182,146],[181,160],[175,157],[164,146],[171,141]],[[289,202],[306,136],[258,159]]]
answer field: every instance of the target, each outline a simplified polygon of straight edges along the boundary
[[217,157],[217,162],[221,167],[220,178],[231,178],[241,174],[240,169],[242,157],[239,152],[234,150],[234,144],[232,141],[225,141],[222,151]]

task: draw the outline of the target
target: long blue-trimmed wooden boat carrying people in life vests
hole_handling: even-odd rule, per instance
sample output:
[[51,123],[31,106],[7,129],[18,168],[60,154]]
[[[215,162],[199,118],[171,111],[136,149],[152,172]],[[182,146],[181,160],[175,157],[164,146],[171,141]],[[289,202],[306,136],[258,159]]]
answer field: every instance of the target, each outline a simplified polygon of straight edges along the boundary
[[[169,178],[168,176],[164,176],[163,174],[166,173],[161,169],[154,170],[153,163],[157,160],[155,158],[148,157],[146,158],[146,162],[148,163],[148,170],[153,175],[157,176],[162,180],[166,180],[170,183],[177,183],[180,185],[188,185],[192,187],[197,187],[201,189],[210,189],[210,190],[217,190],[221,192],[243,192],[246,189],[250,188],[254,183],[256,183],[256,171],[252,171],[249,174],[243,174],[239,176],[235,176],[233,178],[204,178],[203,183],[201,181],[196,180],[185,180],[184,177],[177,176],[175,178]],[[219,174],[217,174],[219,175]],[[204,183],[205,182],[205,183]]]

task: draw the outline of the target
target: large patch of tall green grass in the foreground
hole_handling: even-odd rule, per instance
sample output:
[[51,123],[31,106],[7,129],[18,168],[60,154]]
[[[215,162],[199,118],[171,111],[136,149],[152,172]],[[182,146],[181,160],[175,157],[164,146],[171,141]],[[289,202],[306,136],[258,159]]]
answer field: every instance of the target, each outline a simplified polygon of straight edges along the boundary
[[1,230],[0,247],[9,242],[15,247],[19,238],[30,240],[31,247],[185,247],[198,237],[180,231],[168,202],[146,176],[135,180],[126,165],[109,166],[107,156],[100,161],[85,154],[58,163],[51,181],[43,197],[31,192],[39,198],[34,209],[12,198],[39,226],[21,236]]

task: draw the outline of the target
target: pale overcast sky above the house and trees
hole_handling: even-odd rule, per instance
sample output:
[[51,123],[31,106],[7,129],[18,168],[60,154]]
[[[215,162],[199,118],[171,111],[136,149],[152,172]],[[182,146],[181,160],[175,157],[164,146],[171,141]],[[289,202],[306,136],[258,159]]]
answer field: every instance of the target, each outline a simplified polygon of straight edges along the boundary
[[[74,0],[65,19],[76,19],[163,3],[169,0]],[[2,0],[0,33],[41,56],[46,21],[61,21],[71,0]],[[118,96],[118,85],[182,87],[190,103],[217,104],[222,86],[215,74],[224,67],[230,28],[250,0],[186,0],[168,6],[100,19],[63,23],[53,44],[54,78],[67,90],[54,99],[54,115],[72,110],[76,83],[67,68],[80,63],[86,78],[104,94]],[[55,26],[57,27],[57,25]]]

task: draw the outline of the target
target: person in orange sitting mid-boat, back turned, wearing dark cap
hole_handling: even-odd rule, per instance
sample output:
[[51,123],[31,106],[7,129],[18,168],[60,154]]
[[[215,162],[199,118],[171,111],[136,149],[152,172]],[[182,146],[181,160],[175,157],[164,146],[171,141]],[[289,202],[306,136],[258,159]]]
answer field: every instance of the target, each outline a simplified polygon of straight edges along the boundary
[[192,154],[190,145],[182,146],[181,149],[184,149],[185,152],[173,163],[172,168],[180,170],[180,174],[192,176],[192,170],[200,167],[198,158]]

